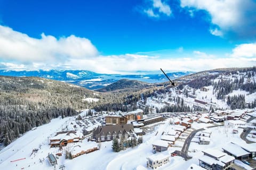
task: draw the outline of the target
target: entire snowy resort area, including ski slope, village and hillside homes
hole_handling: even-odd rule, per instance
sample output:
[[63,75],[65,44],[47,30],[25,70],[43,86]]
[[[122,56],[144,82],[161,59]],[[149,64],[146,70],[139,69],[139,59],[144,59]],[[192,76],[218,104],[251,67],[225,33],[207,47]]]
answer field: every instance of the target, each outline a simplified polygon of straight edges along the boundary
[[[5,169],[255,169],[256,108],[227,108],[212,86],[137,102],[132,112],[95,112],[56,118],[0,151]],[[194,93],[192,91],[194,90]],[[239,93],[241,91],[235,92]],[[207,112],[157,113],[180,97]],[[249,103],[255,93],[247,95]],[[94,101],[95,100],[95,101]],[[99,99],[90,98],[90,102]],[[149,114],[142,110],[149,107]],[[140,109],[141,108],[141,109]],[[81,165],[83,165],[81,167]]]

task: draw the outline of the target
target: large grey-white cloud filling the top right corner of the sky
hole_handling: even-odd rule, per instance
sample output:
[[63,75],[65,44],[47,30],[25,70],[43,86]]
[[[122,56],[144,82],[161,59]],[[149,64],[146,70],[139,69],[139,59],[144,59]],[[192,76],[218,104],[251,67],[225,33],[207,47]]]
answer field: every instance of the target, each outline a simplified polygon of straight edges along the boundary
[[256,38],[256,3],[253,0],[180,0],[188,10],[205,10],[211,16],[215,36]]

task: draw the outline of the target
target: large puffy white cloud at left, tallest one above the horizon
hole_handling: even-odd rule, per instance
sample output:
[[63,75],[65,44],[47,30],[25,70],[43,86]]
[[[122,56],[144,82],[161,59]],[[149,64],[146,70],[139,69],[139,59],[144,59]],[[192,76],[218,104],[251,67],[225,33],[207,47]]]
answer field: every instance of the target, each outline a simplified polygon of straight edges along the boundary
[[24,33],[0,25],[0,58],[26,63],[64,62],[70,58],[97,56],[98,51],[86,38],[74,35],[61,37],[41,35],[41,39],[31,38]]

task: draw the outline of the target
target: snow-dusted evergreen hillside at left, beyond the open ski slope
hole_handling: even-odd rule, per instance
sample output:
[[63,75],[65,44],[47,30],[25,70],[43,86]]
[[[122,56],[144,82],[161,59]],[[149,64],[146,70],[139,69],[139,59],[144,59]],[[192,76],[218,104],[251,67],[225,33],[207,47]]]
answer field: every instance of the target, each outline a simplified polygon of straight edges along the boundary
[[90,106],[82,99],[93,96],[90,90],[58,81],[0,77],[0,142],[7,145],[52,118],[76,115]]

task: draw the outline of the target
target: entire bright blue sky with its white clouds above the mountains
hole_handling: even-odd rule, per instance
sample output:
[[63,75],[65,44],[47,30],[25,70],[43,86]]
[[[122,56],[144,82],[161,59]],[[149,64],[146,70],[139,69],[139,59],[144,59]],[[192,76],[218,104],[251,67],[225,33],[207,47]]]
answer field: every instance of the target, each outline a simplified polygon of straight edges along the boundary
[[202,71],[255,58],[254,0],[0,0],[1,69]]

